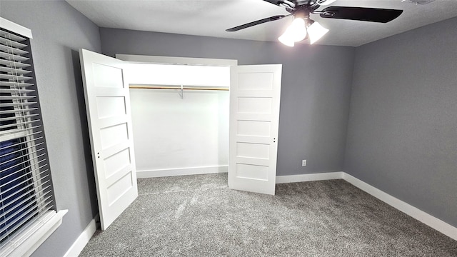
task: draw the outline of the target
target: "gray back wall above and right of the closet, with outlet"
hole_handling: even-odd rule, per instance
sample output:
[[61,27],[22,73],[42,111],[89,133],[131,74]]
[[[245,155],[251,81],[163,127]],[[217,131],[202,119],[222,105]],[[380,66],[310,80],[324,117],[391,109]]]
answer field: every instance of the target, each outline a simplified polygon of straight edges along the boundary
[[[100,29],[104,54],[238,59],[283,64],[278,175],[342,171],[354,49]],[[308,166],[301,167],[301,159]]]

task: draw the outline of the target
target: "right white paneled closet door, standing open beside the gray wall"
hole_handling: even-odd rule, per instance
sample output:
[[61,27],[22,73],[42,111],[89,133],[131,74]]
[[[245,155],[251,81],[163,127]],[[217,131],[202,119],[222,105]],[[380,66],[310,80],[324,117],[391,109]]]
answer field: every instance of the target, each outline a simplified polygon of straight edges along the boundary
[[232,66],[229,188],[274,195],[281,64]]

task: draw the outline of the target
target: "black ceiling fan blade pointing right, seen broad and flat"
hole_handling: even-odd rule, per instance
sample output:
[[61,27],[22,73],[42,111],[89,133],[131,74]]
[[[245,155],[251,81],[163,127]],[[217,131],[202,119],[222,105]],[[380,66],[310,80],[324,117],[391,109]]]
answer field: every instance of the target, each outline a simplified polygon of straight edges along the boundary
[[330,6],[319,11],[318,14],[321,14],[322,18],[386,23],[396,19],[402,12],[403,10],[395,9]]

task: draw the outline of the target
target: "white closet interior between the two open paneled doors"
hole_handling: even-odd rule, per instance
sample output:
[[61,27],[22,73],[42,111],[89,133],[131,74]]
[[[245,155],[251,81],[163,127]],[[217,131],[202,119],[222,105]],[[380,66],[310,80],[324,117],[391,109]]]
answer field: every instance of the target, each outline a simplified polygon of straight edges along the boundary
[[[129,64],[130,84],[226,87],[230,68]],[[131,89],[139,178],[226,172],[229,91]]]

